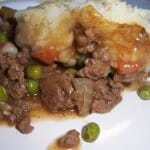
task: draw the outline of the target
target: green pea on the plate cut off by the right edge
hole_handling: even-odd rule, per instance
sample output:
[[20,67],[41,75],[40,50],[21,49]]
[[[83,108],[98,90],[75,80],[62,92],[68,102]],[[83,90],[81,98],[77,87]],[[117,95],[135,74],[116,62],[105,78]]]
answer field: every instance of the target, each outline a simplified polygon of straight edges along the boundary
[[150,86],[145,85],[138,89],[137,94],[143,100],[150,100]]

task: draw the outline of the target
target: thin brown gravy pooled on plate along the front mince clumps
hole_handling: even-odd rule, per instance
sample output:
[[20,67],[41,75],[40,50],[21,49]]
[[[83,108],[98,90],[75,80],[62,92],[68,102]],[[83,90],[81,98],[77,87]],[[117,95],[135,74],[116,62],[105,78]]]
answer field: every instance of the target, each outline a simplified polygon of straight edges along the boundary
[[[49,112],[48,109],[42,104],[38,96],[27,96],[25,99],[26,104],[30,108],[30,117],[32,122],[40,122],[42,120],[55,120],[62,121],[66,119],[82,118],[77,115],[74,110],[62,111],[58,113]],[[5,120],[0,120],[0,125],[10,126]],[[12,125],[13,126],[13,125]]]

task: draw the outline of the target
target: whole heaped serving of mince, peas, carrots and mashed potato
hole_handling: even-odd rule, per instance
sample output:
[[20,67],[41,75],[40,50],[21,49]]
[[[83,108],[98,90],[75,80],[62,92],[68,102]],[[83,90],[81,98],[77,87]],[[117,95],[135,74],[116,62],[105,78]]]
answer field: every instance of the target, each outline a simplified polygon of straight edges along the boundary
[[[116,4],[134,20],[119,12],[114,19]],[[51,113],[106,113],[126,86],[149,76],[148,10],[118,0],[9,9],[0,10],[0,119],[22,133],[32,131],[30,112],[38,109],[28,96]]]

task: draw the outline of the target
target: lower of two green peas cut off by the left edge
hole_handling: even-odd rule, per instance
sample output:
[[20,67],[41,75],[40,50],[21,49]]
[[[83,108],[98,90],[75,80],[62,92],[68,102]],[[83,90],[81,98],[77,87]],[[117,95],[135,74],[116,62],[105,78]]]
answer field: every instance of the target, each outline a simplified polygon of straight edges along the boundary
[[4,86],[0,85],[0,102],[6,102],[8,100],[8,93]]

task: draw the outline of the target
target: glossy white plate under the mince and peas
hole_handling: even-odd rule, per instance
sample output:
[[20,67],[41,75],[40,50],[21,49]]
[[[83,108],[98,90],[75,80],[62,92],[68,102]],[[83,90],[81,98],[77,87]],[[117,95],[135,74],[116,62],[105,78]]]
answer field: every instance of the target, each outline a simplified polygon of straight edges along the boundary
[[[4,4],[4,3],[3,3]],[[5,5],[23,9],[37,5],[36,1],[9,1]],[[47,147],[70,129],[81,131],[87,122],[97,122],[101,133],[94,143],[81,140],[82,150],[149,150],[150,101],[142,101],[135,92],[125,92],[122,102],[110,113],[92,114],[86,118],[64,121],[45,120],[33,123],[31,134],[21,134],[15,128],[0,127],[1,150],[47,150]]]

